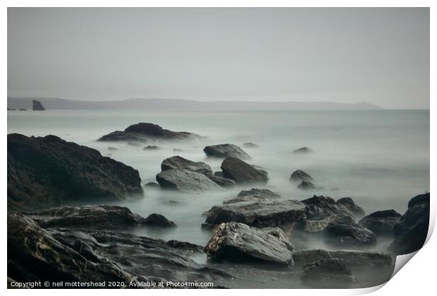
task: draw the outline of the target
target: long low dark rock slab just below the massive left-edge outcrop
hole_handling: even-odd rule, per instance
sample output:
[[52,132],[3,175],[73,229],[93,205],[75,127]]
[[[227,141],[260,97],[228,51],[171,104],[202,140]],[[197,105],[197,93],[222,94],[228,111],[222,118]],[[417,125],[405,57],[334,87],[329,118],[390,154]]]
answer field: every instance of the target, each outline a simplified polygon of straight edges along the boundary
[[123,206],[61,206],[26,214],[43,228],[125,228],[144,223],[144,218]]

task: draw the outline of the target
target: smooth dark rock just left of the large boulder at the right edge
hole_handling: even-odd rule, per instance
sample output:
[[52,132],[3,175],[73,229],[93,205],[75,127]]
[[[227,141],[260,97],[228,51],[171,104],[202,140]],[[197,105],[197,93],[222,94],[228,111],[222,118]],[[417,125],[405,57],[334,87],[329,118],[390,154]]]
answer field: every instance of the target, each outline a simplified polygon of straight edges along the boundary
[[402,217],[395,210],[376,211],[368,216],[362,218],[358,225],[371,230],[378,236],[393,236],[394,226],[400,223]]

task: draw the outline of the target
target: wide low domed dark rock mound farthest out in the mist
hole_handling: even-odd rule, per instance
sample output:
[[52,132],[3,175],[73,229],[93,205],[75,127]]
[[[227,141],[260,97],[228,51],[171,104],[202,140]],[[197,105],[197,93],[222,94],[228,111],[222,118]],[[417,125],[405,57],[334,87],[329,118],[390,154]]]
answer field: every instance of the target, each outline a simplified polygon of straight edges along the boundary
[[202,138],[192,132],[173,132],[153,123],[137,123],[128,126],[124,131],[116,130],[99,138],[99,141],[165,141],[195,140]]

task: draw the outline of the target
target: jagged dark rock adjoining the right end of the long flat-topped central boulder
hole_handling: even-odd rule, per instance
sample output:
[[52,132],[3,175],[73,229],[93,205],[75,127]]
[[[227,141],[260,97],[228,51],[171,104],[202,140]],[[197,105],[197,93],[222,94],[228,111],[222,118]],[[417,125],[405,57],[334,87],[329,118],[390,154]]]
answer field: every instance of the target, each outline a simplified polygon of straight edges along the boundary
[[331,223],[355,223],[353,214],[331,197],[316,196],[301,201],[305,204],[305,218],[300,223],[304,231],[315,233]]

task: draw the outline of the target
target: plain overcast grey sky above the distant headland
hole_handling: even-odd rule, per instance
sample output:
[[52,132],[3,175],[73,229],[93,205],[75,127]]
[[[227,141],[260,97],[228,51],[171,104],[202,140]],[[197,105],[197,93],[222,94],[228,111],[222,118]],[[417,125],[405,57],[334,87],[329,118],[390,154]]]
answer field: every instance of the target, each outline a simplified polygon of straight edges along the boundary
[[429,109],[429,8],[8,8],[8,97]]

